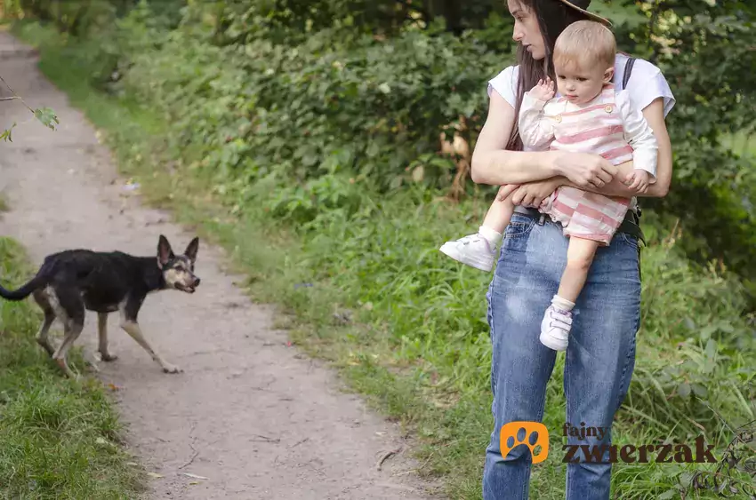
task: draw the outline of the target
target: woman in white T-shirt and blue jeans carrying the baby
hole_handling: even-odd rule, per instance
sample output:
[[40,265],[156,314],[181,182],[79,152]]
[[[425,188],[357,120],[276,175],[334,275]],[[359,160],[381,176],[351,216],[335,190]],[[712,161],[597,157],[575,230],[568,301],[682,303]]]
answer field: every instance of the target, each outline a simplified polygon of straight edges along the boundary
[[[490,104],[485,126],[472,156],[472,179],[481,184],[508,185],[521,205],[504,235],[503,248],[487,293],[488,321],[493,344],[492,410],[495,428],[487,447],[484,498],[525,499],[531,456],[519,446],[506,458],[500,447],[503,425],[513,421],[541,422],[546,383],[556,353],[539,340],[543,310],[558,289],[566,266],[567,238],[549,218],[524,207],[535,207],[560,185],[631,197],[614,167],[599,155],[556,151],[521,151],[516,116],[523,93],[546,75],[556,81],[551,64],[554,42],[576,20],[608,21],[586,11],[590,0],[509,0],[515,19],[513,38],[519,44],[517,67],[507,67],[488,87]],[[615,86],[623,88],[628,57],[615,62]],[[672,147],[664,117],[674,105],[669,85],[659,69],[645,60],[631,66],[627,83],[633,103],[643,110],[659,143],[657,181],[647,196],[664,196],[672,178]],[[597,427],[603,435],[570,444],[609,445],[615,411],[627,393],[635,363],[635,334],[640,321],[639,232],[632,219],[611,245],[596,253],[575,317],[565,360],[564,388],[567,423]],[[562,428],[551,429],[562,435]],[[520,440],[525,436],[518,435]],[[599,439],[600,438],[600,439]],[[535,442],[531,440],[530,442]],[[591,447],[592,448],[592,447]],[[600,448],[596,448],[597,451]],[[551,455],[559,460],[560,447]],[[555,459],[556,459],[555,458]],[[586,463],[582,453],[567,464],[567,499],[608,499],[611,464]]]

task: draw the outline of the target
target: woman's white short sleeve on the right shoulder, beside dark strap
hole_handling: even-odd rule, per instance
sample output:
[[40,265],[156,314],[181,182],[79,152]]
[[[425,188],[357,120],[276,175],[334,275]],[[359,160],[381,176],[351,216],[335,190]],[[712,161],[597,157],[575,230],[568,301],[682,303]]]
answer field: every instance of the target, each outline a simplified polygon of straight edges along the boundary
[[617,54],[615,59],[615,87],[618,90],[627,91],[631,103],[640,110],[647,107],[655,99],[664,99],[664,115],[667,115],[675,105],[675,98],[661,69],[647,60],[634,58],[627,87],[624,87],[625,69],[629,62],[629,56]]

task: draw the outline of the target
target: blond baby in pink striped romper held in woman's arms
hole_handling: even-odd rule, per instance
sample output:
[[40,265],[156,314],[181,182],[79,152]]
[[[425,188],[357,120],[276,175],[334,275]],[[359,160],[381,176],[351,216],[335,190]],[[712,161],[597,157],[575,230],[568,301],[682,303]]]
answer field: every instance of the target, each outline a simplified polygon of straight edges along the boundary
[[[625,185],[644,193],[655,183],[656,139],[643,115],[631,106],[627,91],[615,93],[615,54],[615,37],[608,28],[595,21],[570,24],[554,46],[560,95],[554,98],[548,77],[527,92],[519,133],[529,149],[593,153],[615,165],[632,161],[633,169],[620,169],[620,175]],[[609,245],[630,202],[565,186],[541,204],[538,210],[561,223],[569,236],[567,267],[541,323],[543,345],[555,351],[567,349],[572,309],[595,252],[599,245]],[[511,196],[497,196],[478,234],[446,242],[440,250],[463,264],[490,271],[513,211]]]

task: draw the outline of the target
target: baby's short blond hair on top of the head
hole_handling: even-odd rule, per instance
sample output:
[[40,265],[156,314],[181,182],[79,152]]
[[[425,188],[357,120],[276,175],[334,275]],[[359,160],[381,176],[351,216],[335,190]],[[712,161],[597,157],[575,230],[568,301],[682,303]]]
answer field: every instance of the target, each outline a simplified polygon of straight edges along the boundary
[[616,53],[617,43],[609,28],[593,20],[579,20],[557,38],[553,60],[555,64],[574,63],[578,67],[614,67]]

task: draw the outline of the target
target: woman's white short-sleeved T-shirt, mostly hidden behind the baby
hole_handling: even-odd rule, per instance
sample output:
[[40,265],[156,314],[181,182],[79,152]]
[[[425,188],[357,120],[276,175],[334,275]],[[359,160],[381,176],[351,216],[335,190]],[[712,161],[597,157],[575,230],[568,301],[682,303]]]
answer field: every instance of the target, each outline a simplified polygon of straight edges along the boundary
[[[624,67],[628,61],[628,57],[624,54],[617,54],[615,58],[615,90],[617,92],[622,91],[622,81],[624,76]],[[488,82],[488,96],[491,96],[491,91],[495,90],[501,94],[501,96],[510,103],[511,107],[515,107],[517,102],[517,82],[519,77],[519,66],[510,66],[504,69],[498,75],[495,75]],[[530,89],[526,89],[529,91]],[[669,83],[662,75],[662,72],[658,67],[647,60],[635,60],[632,66],[632,73],[630,80],[627,82],[627,91],[630,94],[630,102],[632,107],[642,111],[644,107],[647,107],[654,99],[664,98],[664,116],[666,116],[675,105],[675,98],[672,95]],[[556,94],[559,96],[559,92]]]

